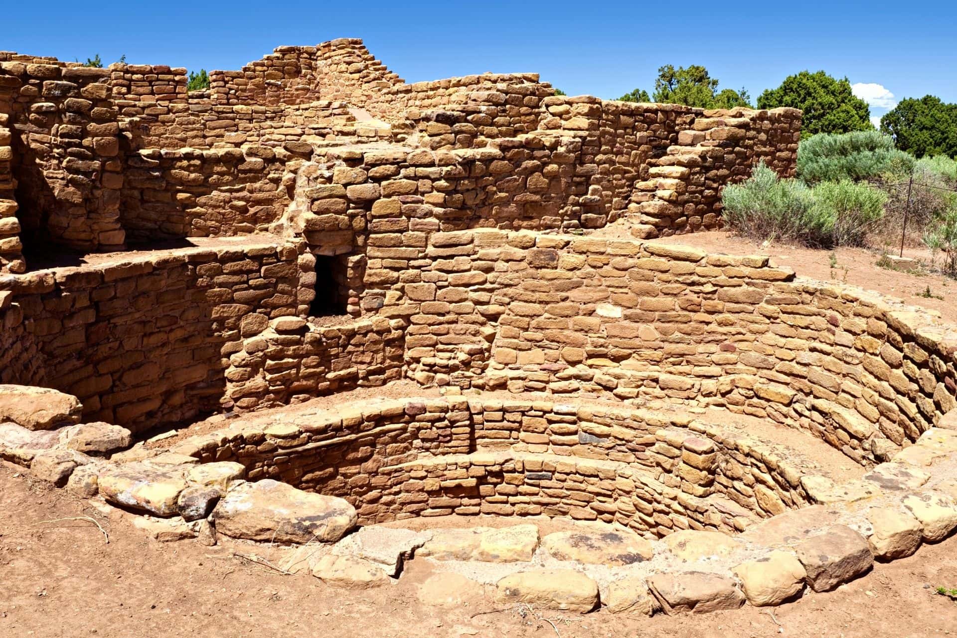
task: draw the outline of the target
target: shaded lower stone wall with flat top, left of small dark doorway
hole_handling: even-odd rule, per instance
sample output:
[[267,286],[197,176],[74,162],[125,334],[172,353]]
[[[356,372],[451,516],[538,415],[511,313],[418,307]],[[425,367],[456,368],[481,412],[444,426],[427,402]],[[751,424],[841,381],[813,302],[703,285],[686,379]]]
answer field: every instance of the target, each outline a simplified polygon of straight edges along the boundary
[[76,395],[86,420],[134,431],[229,407],[224,358],[243,321],[304,312],[298,256],[247,242],[0,277],[0,378],[42,381]]

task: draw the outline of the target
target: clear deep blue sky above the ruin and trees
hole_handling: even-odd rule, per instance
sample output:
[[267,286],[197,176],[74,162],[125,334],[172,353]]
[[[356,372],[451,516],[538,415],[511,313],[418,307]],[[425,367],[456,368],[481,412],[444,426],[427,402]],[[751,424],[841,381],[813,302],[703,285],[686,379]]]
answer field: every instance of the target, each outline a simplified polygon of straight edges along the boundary
[[[703,64],[756,98],[784,77],[848,77],[872,115],[927,93],[957,101],[957,2],[10,2],[0,50],[238,69],[283,44],[362,37],[407,81],[534,71],[569,95],[651,90]],[[890,94],[890,95],[888,95]],[[883,105],[882,107],[879,105]]]

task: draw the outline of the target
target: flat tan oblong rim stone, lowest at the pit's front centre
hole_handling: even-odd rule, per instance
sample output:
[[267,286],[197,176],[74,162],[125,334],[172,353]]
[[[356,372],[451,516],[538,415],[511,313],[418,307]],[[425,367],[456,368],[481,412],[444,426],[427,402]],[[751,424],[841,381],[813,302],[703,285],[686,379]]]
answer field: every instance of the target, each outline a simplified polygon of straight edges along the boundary
[[585,613],[598,605],[598,584],[572,569],[533,569],[511,574],[495,585],[496,602],[527,603]]

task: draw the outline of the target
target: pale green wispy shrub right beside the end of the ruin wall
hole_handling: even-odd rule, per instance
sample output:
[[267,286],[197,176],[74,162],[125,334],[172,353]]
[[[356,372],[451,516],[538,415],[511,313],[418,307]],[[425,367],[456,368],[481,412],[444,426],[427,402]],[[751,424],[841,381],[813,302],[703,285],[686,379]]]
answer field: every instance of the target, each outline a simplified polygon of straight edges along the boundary
[[725,222],[749,237],[830,248],[860,245],[883,216],[886,196],[850,180],[808,187],[782,180],[764,162],[750,179],[724,187]]

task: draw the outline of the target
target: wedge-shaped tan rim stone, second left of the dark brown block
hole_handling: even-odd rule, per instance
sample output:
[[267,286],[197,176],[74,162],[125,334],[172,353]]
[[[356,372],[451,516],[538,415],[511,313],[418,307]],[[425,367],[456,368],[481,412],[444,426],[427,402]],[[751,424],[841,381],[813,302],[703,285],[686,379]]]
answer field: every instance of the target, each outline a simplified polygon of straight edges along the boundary
[[745,595],[734,581],[718,574],[655,574],[648,579],[648,586],[668,615],[681,611],[705,613],[720,609],[737,609],[745,604]]

